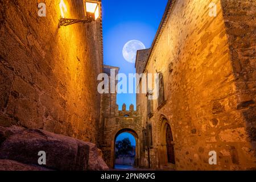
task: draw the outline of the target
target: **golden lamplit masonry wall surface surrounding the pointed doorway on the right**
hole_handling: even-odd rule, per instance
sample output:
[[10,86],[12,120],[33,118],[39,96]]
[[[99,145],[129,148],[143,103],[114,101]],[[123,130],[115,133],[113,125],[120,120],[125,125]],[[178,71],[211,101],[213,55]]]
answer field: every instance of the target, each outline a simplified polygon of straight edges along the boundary
[[[217,5],[217,17],[209,16],[209,4],[215,2]],[[162,164],[163,155],[160,154],[161,147],[160,126],[161,119],[167,118],[172,129],[175,147],[176,169],[252,169],[255,165],[255,147],[251,139],[255,138],[255,132],[247,133],[247,122],[244,111],[246,108],[250,114],[247,115],[253,121],[255,127],[255,59],[247,58],[246,64],[241,64],[243,70],[250,70],[247,75],[251,81],[244,82],[239,76],[241,84],[251,84],[245,90],[250,90],[248,104],[242,104],[238,93],[242,89],[237,86],[236,74],[234,74],[234,56],[240,47],[248,48],[248,55],[255,51],[253,39],[254,34],[249,32],[242,38],[233,39],[242,28],[229,28],[226,22],[226,13],[231,10],[237,12],[238,25],[244,23],[248,30],[253,30],[252,21],[245,15],[245,10],[239,5],[249,7],[254,5],[253,1],[221,1],[218,0],[180,0],[173,1],[170,18],[159,38],[155,51],[148,60],[146,66],[148,73],[162,72],[164,76],[164,89],[166,105],[157,109],[157,101],[154,101],[154,116],[150,119],[152,123],[153,145],[151,153],[151,167],[159,168]],[[237,4],[236,4],[237,3]],[[232,8],[232,5],[236,7]],[[254,7],[251,7],[253,11]],[[255,13],[255,10],[254,10]],[[245,17],[243,19],[242,17]],[[235,17],[228,16],[235,21]],[[224,20],[226,23],[224,23]],[[249,27],[248,27],[249,26]],[[226,28],[228,27],[228,28]],[[226,34],[228,32],[228,35]],[[237,32],[240,35],[240,32]],[[250,45],[245,40],[251,40]],[[236,43],[236,44],[233,44]],[[233,46],[232,46],[233,44]],[[230,46],[231,45],[231,46]],[[235,47],[236,49],[233,49]],[[231,48],[231,49],[230,49]],[[249,50],[251,48],[251,50]],[[250,57],[243,56],[242,58]],[[173,63],[173,71],[168,67]],[[250,69],[249,69],[250,68]],[[253,71],[254,70],[254,71]],[[244,77],[243,77],[244,78]],[[249,79],[249,80],[250,80]],[[248,89],[249,88],[249,89]],[[141,96],[143,97],[143,96]],[[246,104],[247,103],[247,104]],[[141,105],[146,104],[146,97],[141,99]],[[141,113],[146,115],[146,113]],[[253,137],[251,137],[253,136]],[[217,152],[217,165],[210,166],[208,163],[209,152]]]

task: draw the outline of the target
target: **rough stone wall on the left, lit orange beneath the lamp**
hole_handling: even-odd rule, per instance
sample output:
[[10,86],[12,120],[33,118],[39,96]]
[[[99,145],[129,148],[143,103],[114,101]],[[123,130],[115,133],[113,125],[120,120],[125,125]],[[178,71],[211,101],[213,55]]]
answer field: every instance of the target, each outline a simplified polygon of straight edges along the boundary
[[[38,3],[46,3],[46,17]],[[0,125],[95,143],[100,118],[101,21],[58,28],[60,1],[0,0]],[[82,0],[65,1],[84,18]]]

